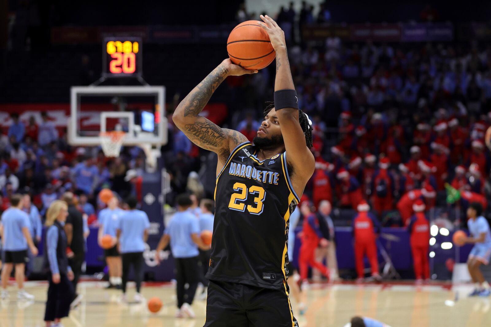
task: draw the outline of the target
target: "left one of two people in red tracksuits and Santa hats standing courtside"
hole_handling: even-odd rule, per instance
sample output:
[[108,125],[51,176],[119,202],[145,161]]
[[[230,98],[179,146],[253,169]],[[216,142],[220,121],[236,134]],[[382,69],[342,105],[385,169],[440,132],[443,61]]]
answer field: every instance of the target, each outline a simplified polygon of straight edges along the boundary
[[364,277],[363,258],[366,255],[372,267],[372,276],[381,280],[379,274],[379,261],[377,260],[376,234],[380,233],[380,223],[368,213],[370,206],[363,200],[357,206],[358,214],[353,218],[353,234],[355,237],[355,265],[358,274],[357,281]]

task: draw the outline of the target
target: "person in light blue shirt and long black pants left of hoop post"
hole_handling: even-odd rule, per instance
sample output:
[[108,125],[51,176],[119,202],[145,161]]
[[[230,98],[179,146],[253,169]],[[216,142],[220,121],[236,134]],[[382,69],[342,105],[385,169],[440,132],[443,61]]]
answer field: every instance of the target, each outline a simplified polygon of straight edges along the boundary
[[143,297],[140,295],[141,280],[143,278],[143,251],[145,250],[145,242],[148,239],[150,221],[144,211],[136,209],[136,205],[138,204],[136,197],[129,197],[126,200],[126,204],[128,204],[130,210],[125,211],[119,217],[116,232],[123,262],[122,300],[126,301],[126,282],[128,281],[130,266],[133,265],[136,282],[135,301],[141,302],[143,300]]

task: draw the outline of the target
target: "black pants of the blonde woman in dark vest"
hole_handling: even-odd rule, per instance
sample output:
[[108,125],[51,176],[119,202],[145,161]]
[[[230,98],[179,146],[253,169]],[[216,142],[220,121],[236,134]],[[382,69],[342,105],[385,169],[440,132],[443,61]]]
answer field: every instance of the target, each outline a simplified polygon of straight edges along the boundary
[[44,321],[54,321],[68,317],[70,311],[70,303],[73,299],[74,289],[73,284],[64,273],[60,273],[60,282],[53,282],[52,274],[48,274],[50,286],[48,288],[48,299],[46,300],[46,311],[44,313]]

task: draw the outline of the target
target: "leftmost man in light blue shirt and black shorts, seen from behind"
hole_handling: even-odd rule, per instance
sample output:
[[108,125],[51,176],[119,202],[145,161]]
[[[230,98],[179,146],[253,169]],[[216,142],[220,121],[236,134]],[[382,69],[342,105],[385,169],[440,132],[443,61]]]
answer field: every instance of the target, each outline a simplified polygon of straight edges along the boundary
[[8,279],[15,265],[15,280],[19,287],[17,298],[32,300],[34,296],[24,290],[25,265],[27,262],[27,247],[33,256],[37,255],[37,248],[30,235],[29,216],[22,211],[24,201],[22,195],[14,194],[10,199],[11,207],[3,212],[0,222],[0,234],[3,245],[3,270],[1,272],[1,298],[7,299]]

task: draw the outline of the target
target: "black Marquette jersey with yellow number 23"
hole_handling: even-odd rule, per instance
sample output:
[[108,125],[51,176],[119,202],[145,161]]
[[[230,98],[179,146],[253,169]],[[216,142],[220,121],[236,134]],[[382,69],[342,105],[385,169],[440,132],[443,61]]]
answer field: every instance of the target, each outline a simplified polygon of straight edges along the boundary
[[238,145],[218,174],[210,267],[212,280],[281,289],[288,264],[290,214],[299,203],[286,152],[260,161]]

